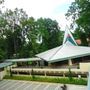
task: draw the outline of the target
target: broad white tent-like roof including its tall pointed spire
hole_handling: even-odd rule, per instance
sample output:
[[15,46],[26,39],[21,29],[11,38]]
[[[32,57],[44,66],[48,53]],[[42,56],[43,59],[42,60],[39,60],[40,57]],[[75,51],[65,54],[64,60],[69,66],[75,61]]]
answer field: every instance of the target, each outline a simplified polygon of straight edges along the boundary
[[90,55],[90,47],[77,46],[71,32],[66,30],[61,46],[47,50],[36,56],[51,63],[87,55]]

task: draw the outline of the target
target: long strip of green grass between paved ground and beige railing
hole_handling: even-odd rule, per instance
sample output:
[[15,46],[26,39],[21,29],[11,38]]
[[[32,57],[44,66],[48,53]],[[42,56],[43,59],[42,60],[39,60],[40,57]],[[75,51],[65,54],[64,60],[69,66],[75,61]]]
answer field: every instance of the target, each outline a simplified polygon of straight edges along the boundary
[[77,79],[73,78],[59,78],[59,77],[39,77],[39,76],[5,76],[4,79],[13,79],[13,80],[26,80],[26,81],[40,81],[40,82],[51,82],[51,83],[62,83],[62,84],[75,84],[75,85],[87,85],[86,79]]

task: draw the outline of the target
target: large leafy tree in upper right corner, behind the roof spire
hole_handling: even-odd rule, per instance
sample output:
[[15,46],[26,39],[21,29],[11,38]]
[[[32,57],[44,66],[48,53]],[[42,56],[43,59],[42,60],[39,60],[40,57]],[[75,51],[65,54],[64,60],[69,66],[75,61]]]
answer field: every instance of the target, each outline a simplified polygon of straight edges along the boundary
[[[83,45],[87,45],[87,38],[90,41],[90,1],[75,0],[75,2],[71,4],[66,16],[72,18],[73,23],[71,26],[77,24],[75,27],[80,33],[79,38],[82,40]],[[82,35],[85,36],[85,39],[82,38]]]

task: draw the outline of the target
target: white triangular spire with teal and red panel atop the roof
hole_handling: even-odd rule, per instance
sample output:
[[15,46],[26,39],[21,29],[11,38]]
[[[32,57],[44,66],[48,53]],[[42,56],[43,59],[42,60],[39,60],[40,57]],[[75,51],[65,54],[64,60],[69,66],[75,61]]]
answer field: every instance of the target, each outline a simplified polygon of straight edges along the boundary
[[76,41],[74,40],[70,30],[66,30],[65,34],[64,34],[64,40],[63,40],[63,44],[65,44],[67,41],[71,42],[73,45],[77,46]]

